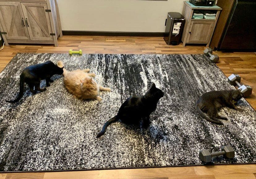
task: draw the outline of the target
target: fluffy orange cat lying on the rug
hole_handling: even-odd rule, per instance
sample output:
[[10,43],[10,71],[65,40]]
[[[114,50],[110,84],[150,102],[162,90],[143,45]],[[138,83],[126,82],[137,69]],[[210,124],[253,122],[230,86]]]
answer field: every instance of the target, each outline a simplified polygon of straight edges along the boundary
[[[63,67],[62,61],[57,62],[58,67]],[[109,87],[102,87],[92,79],[95,73],[87,73],[90,69],[68,71],[63,68],[64,84],[68,92],[80,100],[97,99],[100,91],[110,91]]]

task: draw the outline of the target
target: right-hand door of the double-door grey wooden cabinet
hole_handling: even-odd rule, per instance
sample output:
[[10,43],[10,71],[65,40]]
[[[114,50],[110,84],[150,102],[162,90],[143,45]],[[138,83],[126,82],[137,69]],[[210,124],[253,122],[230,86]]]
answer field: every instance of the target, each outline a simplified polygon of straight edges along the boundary
[[53,40],[46,3],[21,3],[31,40]]

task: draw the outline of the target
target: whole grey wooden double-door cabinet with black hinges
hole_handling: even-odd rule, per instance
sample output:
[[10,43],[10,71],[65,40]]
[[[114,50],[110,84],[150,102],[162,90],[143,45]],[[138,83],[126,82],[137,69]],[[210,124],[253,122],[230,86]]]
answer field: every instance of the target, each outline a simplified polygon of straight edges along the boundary
[[62,36],[56,0],[0,0],[0,31],[9,43],[55,44]]

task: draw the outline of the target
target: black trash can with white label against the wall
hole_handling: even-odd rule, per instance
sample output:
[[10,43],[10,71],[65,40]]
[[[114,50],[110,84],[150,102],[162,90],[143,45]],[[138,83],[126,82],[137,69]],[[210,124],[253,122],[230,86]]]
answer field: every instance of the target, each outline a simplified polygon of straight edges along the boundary
[[180,13],[168,12],[165,23],[165,32],[168,32],[168,36],[164,37],[167,45],[179,45],[184,23],[185,18]]

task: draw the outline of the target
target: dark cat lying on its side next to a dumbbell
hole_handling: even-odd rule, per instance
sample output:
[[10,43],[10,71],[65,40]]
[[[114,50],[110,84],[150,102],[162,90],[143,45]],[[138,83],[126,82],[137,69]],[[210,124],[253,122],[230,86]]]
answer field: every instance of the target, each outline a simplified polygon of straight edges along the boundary
[[[211,91],[204,93],[200,96],[196,103],[196,109],[198,113],[207,121],[215,124],[223,125],[223,122],[219,119],[228,120],[225,116],[220,116],[218,110],[223,107],[229,107],[237,111],[243,111],[243,109],[235,106],[238,100],[243,97],[241,90],[223,90],[223,91]],[[205,115],[202,111],[208,114]]]

